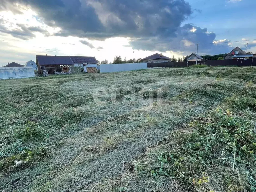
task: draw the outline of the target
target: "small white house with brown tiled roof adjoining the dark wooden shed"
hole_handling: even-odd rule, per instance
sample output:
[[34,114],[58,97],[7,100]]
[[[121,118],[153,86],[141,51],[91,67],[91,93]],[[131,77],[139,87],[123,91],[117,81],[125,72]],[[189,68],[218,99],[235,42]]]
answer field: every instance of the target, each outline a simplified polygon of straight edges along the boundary
[[84,72],[97,73],[99,70],[98,61],[95,57],[70,56],[74,67],[81,67]]

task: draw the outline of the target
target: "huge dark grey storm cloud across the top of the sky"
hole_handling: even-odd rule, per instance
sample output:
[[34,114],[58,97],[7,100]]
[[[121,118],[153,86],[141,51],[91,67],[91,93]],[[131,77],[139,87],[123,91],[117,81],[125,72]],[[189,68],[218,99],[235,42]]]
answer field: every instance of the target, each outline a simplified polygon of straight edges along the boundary
[[56,36],[170,36],[191,14],[184,0],[2,0],[1,7],[11,2],[30,6],[47,25],[61,27]]

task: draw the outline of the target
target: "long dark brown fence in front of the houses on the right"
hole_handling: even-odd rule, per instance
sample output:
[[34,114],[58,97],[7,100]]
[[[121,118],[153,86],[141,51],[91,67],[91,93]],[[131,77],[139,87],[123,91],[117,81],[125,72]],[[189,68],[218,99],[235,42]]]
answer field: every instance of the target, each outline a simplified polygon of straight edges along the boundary
[[[195,65],[196,61],[190,62],[166,62],[166,63],[148,63],[147,67],[189,67]],[[256,58],[254,59],[229,59],[229,60],[204,60],[197,61],[198,65],[208,66],[256,66]]]

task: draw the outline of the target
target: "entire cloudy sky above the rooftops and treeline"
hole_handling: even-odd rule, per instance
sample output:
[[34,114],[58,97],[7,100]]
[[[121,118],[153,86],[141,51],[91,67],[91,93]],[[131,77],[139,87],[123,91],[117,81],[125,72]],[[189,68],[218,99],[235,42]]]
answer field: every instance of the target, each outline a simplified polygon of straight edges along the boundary
[[178,58],[196,53],[196,44],[199,55],[247,43],[255,53],[255,7],[255,0],[0,0],[0,66],[46,54]]

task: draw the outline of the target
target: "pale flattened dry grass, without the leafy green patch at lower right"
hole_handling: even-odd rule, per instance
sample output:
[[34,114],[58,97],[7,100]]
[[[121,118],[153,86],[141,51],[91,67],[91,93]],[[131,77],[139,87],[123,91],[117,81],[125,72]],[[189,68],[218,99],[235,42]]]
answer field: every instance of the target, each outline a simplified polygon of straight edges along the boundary
[[[193,132],[189,126],[191,118],[222,105],[241,87],[252,87],[254,68],[227,70],[234,71],[148,69],[1,81],[1,132],[23,131],[28,121],[35,122],[33,129],[40,127],[41,131],[35,136],[37,140],[22,140],[16,134],[5,133],[2,152],[16,141],[21,142],[21,148],[44,147],[48,152],[46,157],[33,156],[31,164],[9,172],[2,170],[2,190],[187,191],[182,180],[154,179],[145,167],[157,167],[161,152],[180,150],[175,135]],[[243,70],[250,71],[248,79],[239,76]],[[5,140],[9,144],[5,145]],[[2,162],[19,153],[2,156]],[[141,170],[135,171],[142,162]],[[209,183],[189,190],[248,189],[243,169],[226,168],[225,173],[220,172],[220,167],[211,169],[207,172]],[[232,175],[230,181],[238,180],[240,185],[222,184],[225,175]]]

